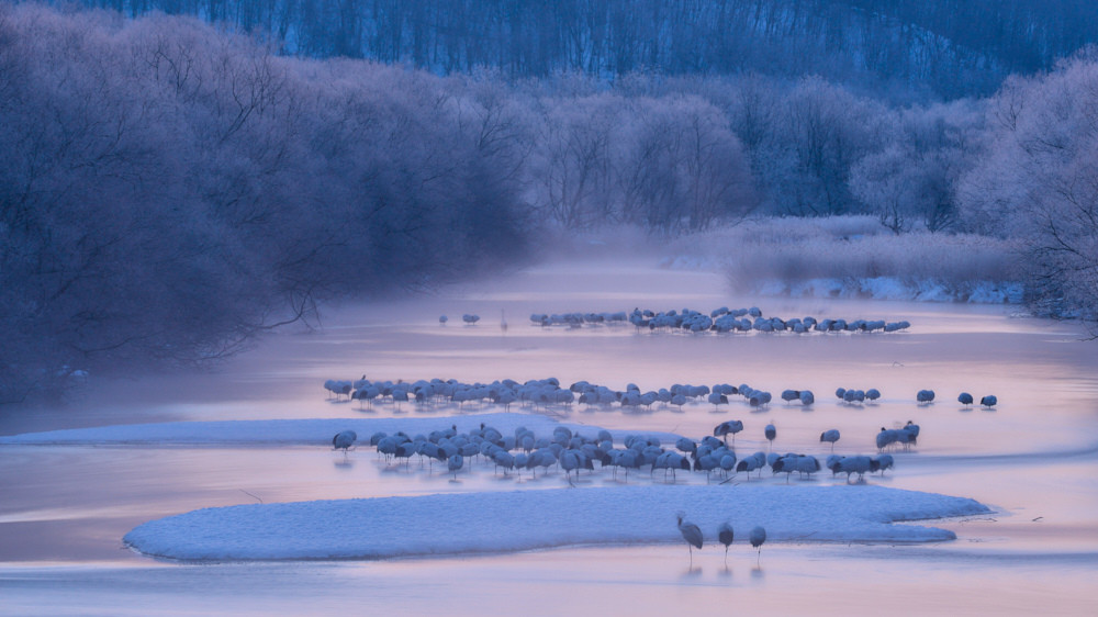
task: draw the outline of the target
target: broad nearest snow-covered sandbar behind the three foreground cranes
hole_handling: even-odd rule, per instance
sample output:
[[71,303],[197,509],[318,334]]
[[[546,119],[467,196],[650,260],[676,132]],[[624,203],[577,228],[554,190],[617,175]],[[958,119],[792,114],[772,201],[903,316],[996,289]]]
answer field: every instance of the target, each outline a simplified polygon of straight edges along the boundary
[[932,542],[952,531],[892,525],[990,511],[973,501],[869,485],[627,486],[205,508],[126,534],[145,554],[181,560],[386,559],[575,545],[681,541],[685,512],[706,536],[729,520],[772,541]]

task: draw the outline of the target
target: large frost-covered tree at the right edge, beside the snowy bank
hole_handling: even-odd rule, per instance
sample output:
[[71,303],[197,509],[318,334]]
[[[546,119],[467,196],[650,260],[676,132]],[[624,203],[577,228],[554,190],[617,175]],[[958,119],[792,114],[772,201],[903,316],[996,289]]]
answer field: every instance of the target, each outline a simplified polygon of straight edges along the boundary
[[1026,242],[1032,300],[1094,319],[1098,305],[1098,56],[1012,79],[990,102],[987,154],[959,184],[968,225]]

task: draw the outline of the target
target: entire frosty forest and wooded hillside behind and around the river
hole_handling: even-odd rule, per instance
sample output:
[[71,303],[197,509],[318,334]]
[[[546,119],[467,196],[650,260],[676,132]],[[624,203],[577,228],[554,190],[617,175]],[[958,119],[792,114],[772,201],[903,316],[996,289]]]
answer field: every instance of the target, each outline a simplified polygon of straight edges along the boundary
[[[815,24],[822,38],[806,45],[867,45],[849,30],[856,14],[956,42],[938,66],[896,38],[904,59],[881,60],[893,72],[847,43],[772,58],[862,57],[872,80],[687,52],[672,44],[677,18],[641,20],[624,1],[552,10],[624,11],[660,34],[451,44],[393,16],[381,35],[386,7],[434,11],[433,24],[464,7],[468,29],[571,23],[520,2],[324,3],[350,34],[307,1],[104,4],[122,12],[0,4],[0,402],[85,371],[214,362],[325,302],[467,279],[607,226],[668,239],[856,214],[894,235],[997,238],[1017,248],[1040,314],[1095,316],[1098,54],[1082,46],[1096,32],[1083,2],[989,3],[984,34],[951,31],[949,2],[632,2],[746,29],[763,38],[753,53],[781,45],[778,18]],[[1031,13],[1024,33],[994,26]],[[545,54],[503,53],[518,40]]]

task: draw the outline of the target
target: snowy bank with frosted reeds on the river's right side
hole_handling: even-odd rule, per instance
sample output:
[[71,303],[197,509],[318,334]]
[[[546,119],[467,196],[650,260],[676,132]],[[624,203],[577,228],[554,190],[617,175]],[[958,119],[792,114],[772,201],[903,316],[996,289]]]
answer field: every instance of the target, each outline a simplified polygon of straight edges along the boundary
[[760,218],[666,247],[669,270],[725,272],[738,293],[1020,304],[1018,246],[973,234],[895,235],[872,216]]

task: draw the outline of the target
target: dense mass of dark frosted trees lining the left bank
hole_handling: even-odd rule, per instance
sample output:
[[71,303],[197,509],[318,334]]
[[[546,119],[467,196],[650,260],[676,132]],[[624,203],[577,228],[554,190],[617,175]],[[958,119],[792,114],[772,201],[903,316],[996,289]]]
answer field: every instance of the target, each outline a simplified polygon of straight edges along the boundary
[[520,253],[527,122],[493,83],[0,4],[0,402]]

